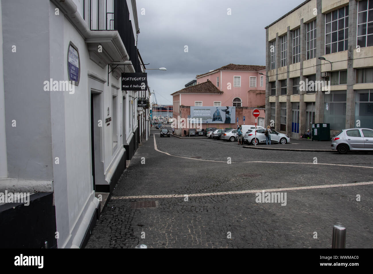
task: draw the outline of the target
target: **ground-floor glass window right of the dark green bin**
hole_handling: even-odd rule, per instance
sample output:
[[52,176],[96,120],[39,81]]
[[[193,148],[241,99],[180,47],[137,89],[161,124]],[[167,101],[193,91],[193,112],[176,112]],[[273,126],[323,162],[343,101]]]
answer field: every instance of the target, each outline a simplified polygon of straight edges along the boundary
[[330,91],[324,95],[324,123],[329,123],[332,130],[346,126],[346,98],[346,91]]

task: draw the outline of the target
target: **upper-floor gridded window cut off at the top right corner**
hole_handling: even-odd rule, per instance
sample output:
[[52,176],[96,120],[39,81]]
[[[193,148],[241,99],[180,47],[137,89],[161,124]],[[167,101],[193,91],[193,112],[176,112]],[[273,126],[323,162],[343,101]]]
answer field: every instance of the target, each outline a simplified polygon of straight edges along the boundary
[[373,45],[373,1],[358,2],[357,9],[357,45],[369,47]]

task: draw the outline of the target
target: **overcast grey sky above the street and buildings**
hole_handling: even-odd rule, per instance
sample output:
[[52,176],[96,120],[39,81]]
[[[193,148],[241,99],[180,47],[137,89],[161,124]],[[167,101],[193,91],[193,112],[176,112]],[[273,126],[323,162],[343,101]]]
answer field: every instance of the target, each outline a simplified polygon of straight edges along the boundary
[[148,85],[158,103],[172,104],[171,93],[209,70],[229,63],[265,65],[264,27],[303,2],[137,0],[142,60],[150,63],[149,69],[167,69],[147,70]]

